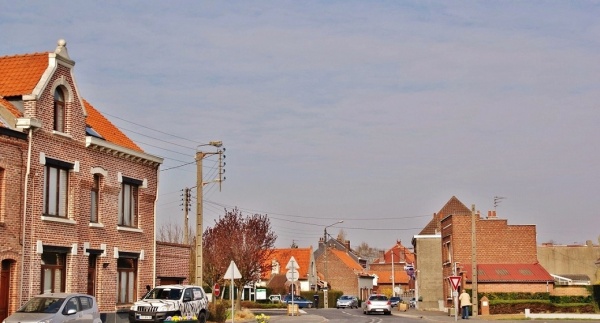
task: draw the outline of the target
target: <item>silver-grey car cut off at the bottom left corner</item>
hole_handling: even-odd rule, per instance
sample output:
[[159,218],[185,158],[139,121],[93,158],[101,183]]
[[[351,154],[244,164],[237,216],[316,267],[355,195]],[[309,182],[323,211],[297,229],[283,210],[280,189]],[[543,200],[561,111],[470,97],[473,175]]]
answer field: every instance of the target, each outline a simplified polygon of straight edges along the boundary
[[48,293],[35,296],[3,323],[37,322],[102,323],[96,298],[77,293]]

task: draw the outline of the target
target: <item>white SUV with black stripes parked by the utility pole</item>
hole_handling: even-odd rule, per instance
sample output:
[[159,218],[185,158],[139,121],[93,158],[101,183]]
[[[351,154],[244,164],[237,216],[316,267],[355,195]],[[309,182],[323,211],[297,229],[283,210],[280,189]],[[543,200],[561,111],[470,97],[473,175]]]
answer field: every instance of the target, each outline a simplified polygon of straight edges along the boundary
[[129,322],[162,322],[169,316],[197,317],[205,323],[208,297],[200,286],[163,285],[148,292],[129,309]]

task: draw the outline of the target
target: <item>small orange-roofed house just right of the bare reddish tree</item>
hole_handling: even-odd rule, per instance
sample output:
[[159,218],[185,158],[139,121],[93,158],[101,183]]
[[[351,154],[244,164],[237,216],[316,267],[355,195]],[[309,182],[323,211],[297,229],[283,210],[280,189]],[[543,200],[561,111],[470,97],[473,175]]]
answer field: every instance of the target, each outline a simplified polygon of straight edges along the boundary
[[267,287],[275,294],[291,293],[292,283],[286,277],[286,266],[292,257],[299,266],[298,280],[293,284],[294,293],[299,295],[301,291],[314,290],[317,284],[317,269],[312,247],[274,249],[266,260],[266,266],[271,270],[262,273],[261,282],[257,286]]

